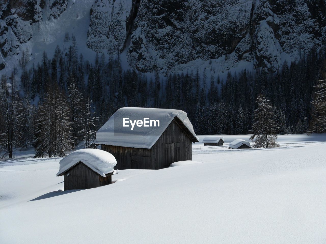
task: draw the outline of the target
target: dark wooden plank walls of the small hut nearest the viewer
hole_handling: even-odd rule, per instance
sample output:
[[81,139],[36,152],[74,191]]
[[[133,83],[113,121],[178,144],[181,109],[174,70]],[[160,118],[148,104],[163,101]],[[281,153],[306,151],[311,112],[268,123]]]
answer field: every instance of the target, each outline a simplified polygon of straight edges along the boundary
[[88,189],[111,184],[111,174],[102,177],[79,162],[64,174],[64,190]]

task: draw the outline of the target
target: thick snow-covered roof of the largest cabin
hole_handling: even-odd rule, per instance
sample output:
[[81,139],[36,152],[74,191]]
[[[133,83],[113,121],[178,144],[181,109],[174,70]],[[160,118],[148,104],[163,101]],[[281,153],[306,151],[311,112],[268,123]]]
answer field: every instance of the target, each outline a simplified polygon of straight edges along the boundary
[[[160,126],[135,126],[131,130],[130,127],[123,127],[123,118],[126,117],[132,120],[143,118],[149,118],[150,120],[158,119]],[[185,133],[192,138],[192,141],[198,142],[199,139],[194,132],[193,126],[187,114],[182,110],[125,107],[118,109],[96,132],[95,143],[124,147],[152,148],[175,117],[182,122],[181,125]]]

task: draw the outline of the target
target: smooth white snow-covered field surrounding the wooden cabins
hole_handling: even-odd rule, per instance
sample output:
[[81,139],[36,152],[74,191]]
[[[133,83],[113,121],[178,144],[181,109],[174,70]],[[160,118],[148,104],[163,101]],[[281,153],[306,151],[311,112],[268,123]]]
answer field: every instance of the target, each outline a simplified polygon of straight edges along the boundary
[[326,135],[271,149],[222,136],[193,144],[202,163],[120,170],[87,190],[63,191],[60,159],[1,161],[0,243],[326,243]]

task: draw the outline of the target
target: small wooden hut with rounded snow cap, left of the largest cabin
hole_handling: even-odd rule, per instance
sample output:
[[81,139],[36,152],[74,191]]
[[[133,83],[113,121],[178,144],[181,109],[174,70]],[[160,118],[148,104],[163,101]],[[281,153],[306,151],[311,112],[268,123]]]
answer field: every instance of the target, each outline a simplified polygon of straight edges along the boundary
[[60,160],[57,176],[64,176],[64,190],[88,189],[111,184],[117,161],[98,149],[76,150]]

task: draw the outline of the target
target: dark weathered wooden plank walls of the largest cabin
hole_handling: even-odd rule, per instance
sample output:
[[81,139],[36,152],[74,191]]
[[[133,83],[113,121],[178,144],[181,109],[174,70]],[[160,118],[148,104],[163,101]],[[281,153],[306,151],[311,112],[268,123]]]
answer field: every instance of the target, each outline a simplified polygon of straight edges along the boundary
[[117,160],[114,169],[163,169],[191,160],[191,139],[174,119],[151,149],[101,145]]

